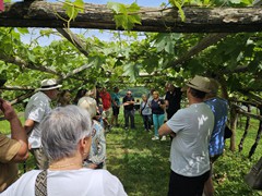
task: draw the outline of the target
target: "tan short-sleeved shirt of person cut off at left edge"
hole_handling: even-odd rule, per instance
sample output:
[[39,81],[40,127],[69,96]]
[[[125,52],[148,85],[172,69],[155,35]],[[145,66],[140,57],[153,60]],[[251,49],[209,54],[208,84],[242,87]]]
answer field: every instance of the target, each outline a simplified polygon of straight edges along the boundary
[[17,164],[9,161],[17,154],[21,144],[0,133],[0,193],[17,179]]

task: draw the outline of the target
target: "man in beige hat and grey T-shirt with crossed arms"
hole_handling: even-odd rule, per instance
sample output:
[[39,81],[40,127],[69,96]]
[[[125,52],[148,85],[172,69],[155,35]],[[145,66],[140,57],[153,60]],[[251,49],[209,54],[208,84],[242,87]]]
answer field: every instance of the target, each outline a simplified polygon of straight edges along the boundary
[[210,176],[209,142],[214,126],[212,110],[204,98],[210,79],[195,76],[187,86],[189,107],[178,110],[158,130],[171,134],[171,173],[168,195],[202,195]]

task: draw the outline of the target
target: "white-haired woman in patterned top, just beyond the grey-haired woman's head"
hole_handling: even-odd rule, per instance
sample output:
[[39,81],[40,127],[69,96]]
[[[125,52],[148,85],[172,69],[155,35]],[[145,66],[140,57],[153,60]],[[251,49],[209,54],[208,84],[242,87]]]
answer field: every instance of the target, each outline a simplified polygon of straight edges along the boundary
[[96,100],[91,97],[82,97],[78,106],[87,110],[92,119],[92,145],[88,158],[84,161],[84,166],[92,169],[106,168],[106,138],[105,131],[102,125],[94,120],[97,112]]

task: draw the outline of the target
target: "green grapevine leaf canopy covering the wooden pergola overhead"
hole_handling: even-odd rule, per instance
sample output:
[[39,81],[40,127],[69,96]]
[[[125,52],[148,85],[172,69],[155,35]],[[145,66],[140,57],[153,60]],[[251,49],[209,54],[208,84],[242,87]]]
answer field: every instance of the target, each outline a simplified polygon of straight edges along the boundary
[[[187,4],[201,7],[251,4],[248,0],[169,2],[181,9]],[[108,2],[107,7],[115,13],[117,28],[130,30],[134,25],[141,25],[140,7],[135,2],[130,5]],[[64,3],[70,20],[74,20],[75,14],[82,12],[83,8],[81,0]],[[182,10],[179,9],[179,12],[182,17]],[[63,79],[63,86],[76,90],[83,86],[90,88],[96,83],[119,85],[120,88],[131,85],[146,87],[158,85],[159,89],[164,90],[163,86],[167,81],[181,86],[186,79],[200,74],[218,78],[229,93],[242,89],[260,91],[262,88],[261,33],[227,35],[216,45],[180,63],[176,62],[198,46],[206,34],[112,32],[112,41],[79,35],[86,46],[88,57],[81,53],[67,39],[53,40],[49,46],[43,46],[37,39],[32,39],[31,44],[23,44],[21,36],[28,34],[29,30],[26,28],[0,29],[0,71],[7,73],[7,85],[37,88],[43,78],[53,76],[62,78],[78,68],[88,64],[88,69]],[[52,34],[58,35],[53,29],[40,30],[40,36],[44,37]],[[39,68],[51,70],[55,75],[37,70]],[[141,73],[151,75],[142,77]]]

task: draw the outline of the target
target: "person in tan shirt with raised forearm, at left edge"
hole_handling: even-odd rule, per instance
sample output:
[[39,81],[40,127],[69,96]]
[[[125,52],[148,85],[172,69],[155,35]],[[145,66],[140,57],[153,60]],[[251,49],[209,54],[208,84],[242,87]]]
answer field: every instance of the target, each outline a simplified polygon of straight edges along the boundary
[[[2,84],[3,85],[3,84]],[[27,136],[9,102],[0,98],[0,110],[10,122],[11,138],[0,133],[0,193],[12,184],[19,174],[16,162],[28,157]]]

